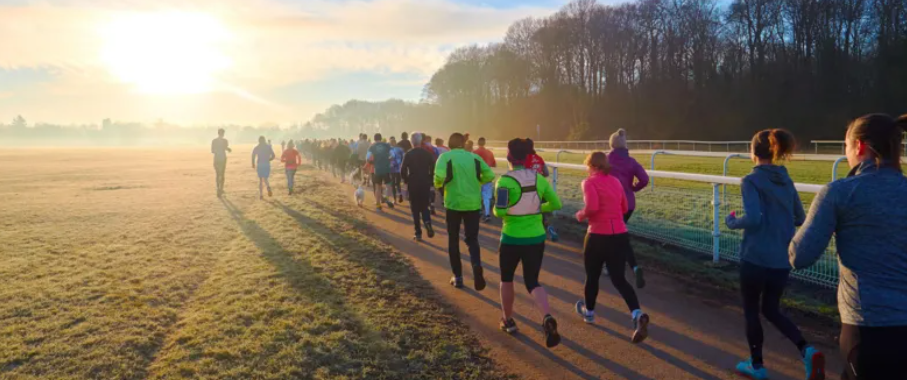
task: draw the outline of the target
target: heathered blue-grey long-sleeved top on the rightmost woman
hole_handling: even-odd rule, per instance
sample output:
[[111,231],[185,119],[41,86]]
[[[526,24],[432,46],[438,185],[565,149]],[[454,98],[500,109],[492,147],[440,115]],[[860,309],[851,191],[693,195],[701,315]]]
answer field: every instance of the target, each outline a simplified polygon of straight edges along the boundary
[[866,161],[825,186],[790,245],[791,264],[813,265],[833,234],[841,323],[907,326],[907,178]]

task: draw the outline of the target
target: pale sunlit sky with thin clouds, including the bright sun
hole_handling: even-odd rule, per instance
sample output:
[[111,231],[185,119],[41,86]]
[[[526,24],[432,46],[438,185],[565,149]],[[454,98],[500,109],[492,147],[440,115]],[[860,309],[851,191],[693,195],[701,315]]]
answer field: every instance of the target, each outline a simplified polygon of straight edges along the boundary
[[419,100],[453,49],[566,0],[0,0],[0,123],[305,122]]

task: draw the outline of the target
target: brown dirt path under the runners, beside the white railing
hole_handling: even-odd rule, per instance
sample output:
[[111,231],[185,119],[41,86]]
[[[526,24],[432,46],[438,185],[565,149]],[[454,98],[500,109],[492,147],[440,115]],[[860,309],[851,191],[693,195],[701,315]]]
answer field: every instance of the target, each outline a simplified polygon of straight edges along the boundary
[[[350,190],[352,192],[352,190]],[[609,281],[603,279],[596,324],[586,325],[574,313],[580,299],[585,272],[577,242],[549,243],[545,252],[541,282],[549,293],[552,313],[558,319],[562,344],[545,348],[540,327],[541,315],[522,287],[517,271],[515,310],[520,333],[508,336],[498,330],[497,237],[500,225],[483,224],[480,233],[482,261],[488,287],[471,288],[472,273],[464,270],[464,289],[448,285],[451,276],[443,218],[435,217],[437,236],[423,243],[413,241],[409,206],[375,211],[373,201],[365,207],[367,221],[379,235],[406,253],[448,302],[459,317],[479,336],[490,355],[505,369],[525,379],[734,379],[733,366],[748,355],[743,316],[737,305],[722,305],[696,298],[677,281],[656,275],[639,291],[643,308],[652,317],[650,339],[644,344],[629,342],[632,322],[623,300]],[[464,267],[469,267],[465,243],[461,241]],[[765,324],[766,363],[773,379],[803,379],[803,366],[793,347],[773,327]],[[829,379],[838,379],[841,363],[831,347],[828,353]]]

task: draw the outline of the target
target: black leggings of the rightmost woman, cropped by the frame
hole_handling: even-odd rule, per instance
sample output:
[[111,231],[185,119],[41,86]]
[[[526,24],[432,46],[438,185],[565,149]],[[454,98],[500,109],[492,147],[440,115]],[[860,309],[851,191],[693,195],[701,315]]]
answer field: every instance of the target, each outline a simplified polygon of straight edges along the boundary
[[867,327],[841,325],[843,380],[905,380],[907,326]]

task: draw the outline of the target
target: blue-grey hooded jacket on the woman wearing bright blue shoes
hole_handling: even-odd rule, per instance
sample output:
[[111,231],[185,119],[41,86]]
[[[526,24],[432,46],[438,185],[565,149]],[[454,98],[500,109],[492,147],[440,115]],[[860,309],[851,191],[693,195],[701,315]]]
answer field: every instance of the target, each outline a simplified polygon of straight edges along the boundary
[[759,165],[743,178],[744,215],[728,216],[732,230],[743,230],[740,259],[765,268],[790,269],[787,247],[806,214],[787,169]]

